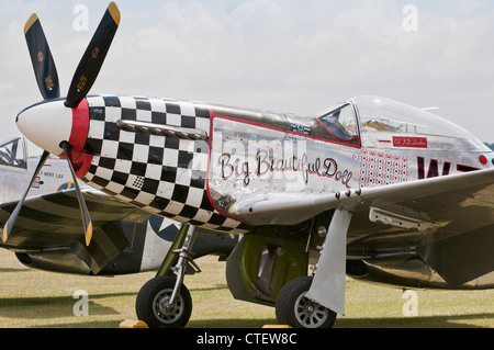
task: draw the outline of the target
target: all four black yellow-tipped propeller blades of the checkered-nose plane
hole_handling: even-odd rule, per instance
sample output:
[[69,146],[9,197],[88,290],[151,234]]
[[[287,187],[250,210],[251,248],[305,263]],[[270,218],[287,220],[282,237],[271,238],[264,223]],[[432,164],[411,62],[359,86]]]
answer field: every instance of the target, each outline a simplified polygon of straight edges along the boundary
[[[88,94],[103,65],[119,24],[119,8],[114,2],[111,2],[76,69],[65,101],[65,105],[67,108],[76,109]],[[60,89],[55,61],[36,14],[33,14],[27,20],[24,27],[24,36],[26,38],[31,60],[33,63],[34,75],[44,100],[58,99],[60,97]],[[76,184],[77,199],[79,201],[85,228],[86,244],[89,245],[92,237],[92,223],[85,197],[80,191],[77,177],[74,171],[71,153],[72,145],[69,144],[69,140],[64,140],[60,143],[60,148],[64,149],[64,156],[68,161],[68,166],[74,178],[74,183]],[[40,159],[40,162],[37,163],[26,191],[5,223],[2,233],[3,242],[8,240],[31,185],[43,168],[48,156],[49,153],[45,150]]]

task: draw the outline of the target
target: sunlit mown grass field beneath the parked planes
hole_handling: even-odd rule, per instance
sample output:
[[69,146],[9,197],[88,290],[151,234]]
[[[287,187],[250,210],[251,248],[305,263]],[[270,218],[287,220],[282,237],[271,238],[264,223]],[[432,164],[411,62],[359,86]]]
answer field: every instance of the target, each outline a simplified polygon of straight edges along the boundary
[[[193,300],[193,328],[261,328],[276,324],[274,309],[235,301],[224,278],[224,262],[214,257],[197,261],[203,271],[187,275]],[[135,319],[134,303],[141,286],[154,273],[121,276],[79,276],[32,270],[12,252],[0,249],[1,328],[117,328]],[[88,295],[88,315],[75,316],[78,290]],[[348,279],[343,328],[494,328],[494,291],[417,292],[418,316],[403,316],[400,289]],[[76,309],[79,309],[76,307]]]

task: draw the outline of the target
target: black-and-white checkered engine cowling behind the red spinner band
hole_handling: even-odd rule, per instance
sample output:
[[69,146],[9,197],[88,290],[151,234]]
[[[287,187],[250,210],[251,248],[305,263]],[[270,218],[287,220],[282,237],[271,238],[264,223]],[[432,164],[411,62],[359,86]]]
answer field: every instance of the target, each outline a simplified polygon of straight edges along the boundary
[[242,224],[215,211],[206,189],[210,111],[167,99],[88,98],[85,181],[145,211],[214,232]]

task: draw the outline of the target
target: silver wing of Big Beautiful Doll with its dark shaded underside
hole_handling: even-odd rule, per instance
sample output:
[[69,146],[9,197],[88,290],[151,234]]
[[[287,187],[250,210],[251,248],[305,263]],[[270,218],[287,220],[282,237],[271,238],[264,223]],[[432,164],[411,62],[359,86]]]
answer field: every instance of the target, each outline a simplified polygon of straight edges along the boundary
[[420,257],[452,286],[494,270],[494,169],[339,193],[250,194],[228,214],[295,225],[336,208],[353,213],[347,255]]

